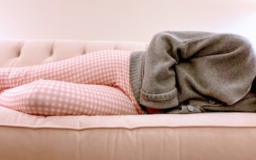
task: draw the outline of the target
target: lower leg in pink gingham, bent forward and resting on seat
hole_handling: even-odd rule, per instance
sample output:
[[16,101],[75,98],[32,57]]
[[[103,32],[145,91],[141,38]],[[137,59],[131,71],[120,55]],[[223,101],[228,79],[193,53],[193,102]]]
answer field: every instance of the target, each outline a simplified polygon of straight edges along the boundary
[[0,106],[42,116],[139,114],[122,91],[111,86],[35,80],[7,89]]

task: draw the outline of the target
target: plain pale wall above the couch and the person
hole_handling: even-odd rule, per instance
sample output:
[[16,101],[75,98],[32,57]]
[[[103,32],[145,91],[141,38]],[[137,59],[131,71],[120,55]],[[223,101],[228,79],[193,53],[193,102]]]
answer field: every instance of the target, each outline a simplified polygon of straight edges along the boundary
[[238,33],[256,44],[256,1],[0,0],[0,38],[149,42],[164,30]]

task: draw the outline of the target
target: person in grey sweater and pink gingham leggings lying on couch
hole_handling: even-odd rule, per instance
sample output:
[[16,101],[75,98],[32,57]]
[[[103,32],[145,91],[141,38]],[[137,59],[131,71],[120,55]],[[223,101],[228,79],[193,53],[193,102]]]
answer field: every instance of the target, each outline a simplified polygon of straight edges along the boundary
[[255,76],[246,38],[165,31],[146,51],[1,68],[0,106],[44,116],[256,112]]

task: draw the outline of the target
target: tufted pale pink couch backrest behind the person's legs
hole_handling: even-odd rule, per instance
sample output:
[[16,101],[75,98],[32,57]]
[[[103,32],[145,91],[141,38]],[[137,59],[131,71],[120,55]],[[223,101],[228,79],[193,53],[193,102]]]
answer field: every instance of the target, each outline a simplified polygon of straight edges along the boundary
[[83,41],[72,39],[0,39],[0,67],[40,65],[96,50],[145,50],[144,42]]

